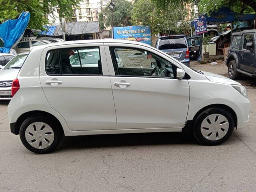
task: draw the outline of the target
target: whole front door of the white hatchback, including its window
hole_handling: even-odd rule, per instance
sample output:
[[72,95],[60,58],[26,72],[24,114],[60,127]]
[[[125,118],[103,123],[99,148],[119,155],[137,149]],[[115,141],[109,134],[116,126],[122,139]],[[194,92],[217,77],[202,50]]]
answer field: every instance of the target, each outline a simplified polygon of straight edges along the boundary
[[[110,76],[118,129],[173,128],[186,122],[188,80],[150,50],[110,47],[116,76]],[[117,62],[122,60],[123,65]]]

